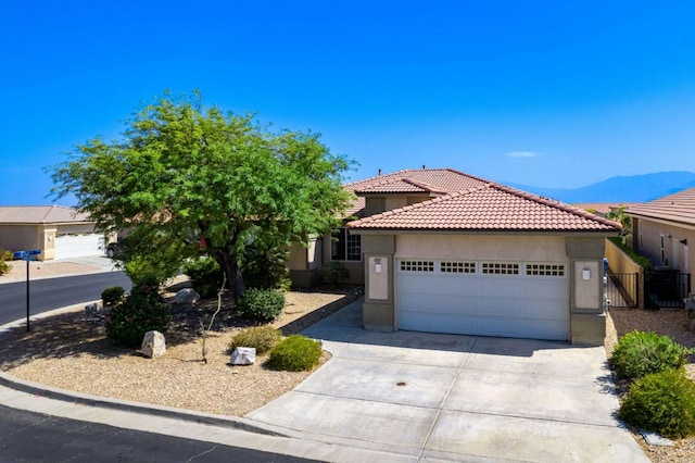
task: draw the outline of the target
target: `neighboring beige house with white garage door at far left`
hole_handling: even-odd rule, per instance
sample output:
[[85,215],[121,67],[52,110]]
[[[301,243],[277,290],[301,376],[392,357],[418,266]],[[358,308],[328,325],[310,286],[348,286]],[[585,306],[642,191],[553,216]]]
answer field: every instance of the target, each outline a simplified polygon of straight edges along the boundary
[[0,248],[40,249],[38,260],[104,253],[104,235],[85,214],[63,205],[0,207]]

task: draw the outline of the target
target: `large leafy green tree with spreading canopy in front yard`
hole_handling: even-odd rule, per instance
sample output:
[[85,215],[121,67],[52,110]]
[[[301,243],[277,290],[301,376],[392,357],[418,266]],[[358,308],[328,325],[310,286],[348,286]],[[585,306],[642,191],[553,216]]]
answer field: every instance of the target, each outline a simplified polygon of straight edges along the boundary
[[287,246],[338,225],[351,164],[318,134],[273,133],[253,115],[204,105],[198,92],[165,93],[121,139],[77,146],[54,168],[53,193],[74,195],[101,230],[128,229],[126,265],[162,279],[203,247],[239,297],[240,256],[254,239]]

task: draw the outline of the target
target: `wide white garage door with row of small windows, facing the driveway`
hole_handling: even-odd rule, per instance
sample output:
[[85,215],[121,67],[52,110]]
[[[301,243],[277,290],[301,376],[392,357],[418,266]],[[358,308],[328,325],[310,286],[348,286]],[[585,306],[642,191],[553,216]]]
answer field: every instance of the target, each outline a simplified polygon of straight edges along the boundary
[[567,264],[397,261],[399,329],[569,339]]

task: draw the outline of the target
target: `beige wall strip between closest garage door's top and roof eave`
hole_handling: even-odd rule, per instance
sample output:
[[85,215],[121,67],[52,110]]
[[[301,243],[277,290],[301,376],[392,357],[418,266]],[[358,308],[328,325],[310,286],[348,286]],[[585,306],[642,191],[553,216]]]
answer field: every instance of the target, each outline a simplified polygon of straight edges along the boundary
[[561,236],[399,235],[395,256],[567,262]]

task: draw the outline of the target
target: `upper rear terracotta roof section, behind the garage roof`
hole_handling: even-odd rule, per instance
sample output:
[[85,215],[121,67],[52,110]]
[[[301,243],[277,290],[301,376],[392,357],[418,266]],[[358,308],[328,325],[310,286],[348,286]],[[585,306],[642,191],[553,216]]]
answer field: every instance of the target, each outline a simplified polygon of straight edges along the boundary
[[412,193],[444,195],[484,185],[486,180],[453,168],[408,168],[379,175],[345,185],[355,193]]

